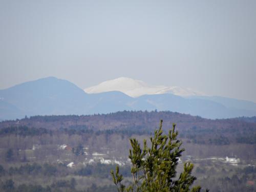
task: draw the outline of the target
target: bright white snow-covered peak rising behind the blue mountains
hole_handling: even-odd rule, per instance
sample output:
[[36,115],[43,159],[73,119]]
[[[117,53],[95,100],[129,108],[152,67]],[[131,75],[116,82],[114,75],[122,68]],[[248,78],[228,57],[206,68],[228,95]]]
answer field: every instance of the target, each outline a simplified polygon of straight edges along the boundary
[[172,93],[179,96],[204,95],[191,89],[181,87],[150,86],[144,81],[135,80],[128,77],[119,77],[99,83],[97,86],[84,89],[86,93],[102,93],[109,91],[120,91],[131,97],[141,95],[154,95]]

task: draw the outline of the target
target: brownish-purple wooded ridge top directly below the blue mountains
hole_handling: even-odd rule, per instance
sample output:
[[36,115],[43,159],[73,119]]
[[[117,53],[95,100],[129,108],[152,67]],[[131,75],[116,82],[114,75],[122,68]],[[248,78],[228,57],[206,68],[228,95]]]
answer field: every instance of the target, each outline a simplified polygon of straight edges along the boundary
[[[191,116],[176,112],[143,112],[143,111],[123,111],[110,114],[96,115],[52,115],[52,116],[33,116],[20,119],[20,126],[45,127],[49,130],[68,129],[70,127],[99,130],[125,129],[140,126],[144,129],[154,131],[158,126],[158,119],[163,119],[166,124],[172,121],[179,123],[180,130],[188,130],[195,126],[198,130],[205,129],[256,129],[254,121],[247,122],[246,118],[234,119],[204,119],[199,116]],[[16,120],[0,122],[0,129],[3,127],[17,126]]]

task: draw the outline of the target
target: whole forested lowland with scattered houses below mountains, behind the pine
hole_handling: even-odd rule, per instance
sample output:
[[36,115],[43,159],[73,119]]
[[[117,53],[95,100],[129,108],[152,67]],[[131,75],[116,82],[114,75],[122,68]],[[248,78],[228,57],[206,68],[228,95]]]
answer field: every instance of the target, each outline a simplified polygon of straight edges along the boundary
[[[180,168],[186,161],[195,163],[197,183],[211,191],[221,191],[223,186],[225,191],[256,189],[254,118],[210,120],[157,111],[2,121],[0,187],[4,191],[27,191],[28,187],[32,191],[113,191],[110,170],[116,164],[122,166],[125,182],[130,182],[129,138],[148,139],[160,119],[165,132],[177,124],[186,149]],[[220,182],[212,185],[215,180]]]

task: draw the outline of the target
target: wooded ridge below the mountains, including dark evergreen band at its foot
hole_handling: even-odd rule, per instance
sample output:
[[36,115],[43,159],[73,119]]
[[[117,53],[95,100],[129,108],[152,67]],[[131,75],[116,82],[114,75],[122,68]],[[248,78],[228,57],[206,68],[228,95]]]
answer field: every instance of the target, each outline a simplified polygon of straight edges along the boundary
[[[68,135],[120,134],[151,135],[157,127],[158,119],[166,124],[171,120],[179,123],[181,138],[198,144],[228,145],[230,143],[256,143],[256,123],[253,118],[204,119],[173,112],[133,112],[123,111],[98,115],[34,116],[19,120],[19,135],[42,135],[65,133]],[[167,133],[167,130],[164,129]],[[0,122],[0,136],[17,133],[17,121]]]

